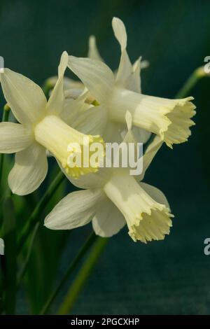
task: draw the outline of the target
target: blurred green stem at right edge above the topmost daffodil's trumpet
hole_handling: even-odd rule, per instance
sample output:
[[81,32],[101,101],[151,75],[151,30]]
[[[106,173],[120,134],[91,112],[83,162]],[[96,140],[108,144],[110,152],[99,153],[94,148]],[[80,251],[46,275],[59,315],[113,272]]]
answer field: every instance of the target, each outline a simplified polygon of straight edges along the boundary
[[181,90],[176,94],[176,98],[183,98],[188,96],[189,92],[193,87],[196,85],[196,83],[201,79],[204,78],[204,76],[209,76],[208,73],[205,73],[204,66],[200,66],[191,74],[191,76],[186,80],[186,83],[181,87]]

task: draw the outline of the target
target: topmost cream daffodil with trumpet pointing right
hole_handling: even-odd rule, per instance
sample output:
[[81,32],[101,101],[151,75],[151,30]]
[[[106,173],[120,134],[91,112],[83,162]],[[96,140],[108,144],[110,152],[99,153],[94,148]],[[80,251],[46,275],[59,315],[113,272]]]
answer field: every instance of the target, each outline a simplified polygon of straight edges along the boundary
[[[187,141],[191,134],[190,126],[195,125],[193,120],[190,120],[195,116],[195,105],[190,102],[193,97],[165,99],[141,94],[138,78],[140,60],[134,67],[130,64],[123,22],[114,18],[113,29],[122,53],[116,78],[109,66],[103,62],[69,56],[69,69],[80,78],[100,105],[99,109],[95,109],[95,113],[100,113],[109,122],[125,124],[125,113],[130,111],[134,126],[157,134],[167,146],[172,148],[172,144]],[[106,122],[104,120],[104,127]]]

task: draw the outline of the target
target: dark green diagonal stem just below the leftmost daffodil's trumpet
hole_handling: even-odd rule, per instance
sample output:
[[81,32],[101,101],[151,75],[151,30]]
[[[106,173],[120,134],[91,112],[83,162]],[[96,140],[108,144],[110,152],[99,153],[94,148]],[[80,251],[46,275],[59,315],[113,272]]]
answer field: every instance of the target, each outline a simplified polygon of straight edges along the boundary
[[41,200],[36,204],[36,207],[34,211],[32,212],[31,216],[27,219],[25,228],[22,230],[22,235],[20,237],[20,240],[18,241],[18,253],[21,251],[23,244],[25,244],[25,241],[27,241],[27,238],[29,237],[29,234],[31,233],[31,230],[33,230],[34,225],[39,219],[39,216],[41,216],[41,213],[43,212],[43,209],[45,209],[46,205],[50,201],[52,195],[56,192],[59,185],[64,181],[64,174],[62,172],[59,172],[55,179],[50,184],[48,190],[46,190],[45,194],[41,198]]

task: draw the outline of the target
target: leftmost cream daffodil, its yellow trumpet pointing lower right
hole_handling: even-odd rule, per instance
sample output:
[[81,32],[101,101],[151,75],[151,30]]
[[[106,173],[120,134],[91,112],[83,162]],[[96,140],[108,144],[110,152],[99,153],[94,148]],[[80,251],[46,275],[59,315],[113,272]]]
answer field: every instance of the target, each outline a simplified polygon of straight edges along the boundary
[[[58,69],[57,83],[46,100],[41,87],[10,69],[1,73],[1,87],[6,102],[19,123],[0,123],[0,153],[16,153],[15,165],[8,176],[13,193],[27,195],[42,183],[48,172],[47,149],[57,158],[66,172],[77,178],[80,174],[96,172],[92,167],[69,167],[71,143],[83,146],[85,134],[73,129],[62,120],[64,108],[64,71],[68,62],[63,52]],[[81,96],[80,98],[82,98]],[[81,99],[78,99],[80,102]],[[75,104],[74,104],[75,105]],[[102,142],[99,136],[88,136],[90,144]],[[83,150],[83,148],[81,147]]]

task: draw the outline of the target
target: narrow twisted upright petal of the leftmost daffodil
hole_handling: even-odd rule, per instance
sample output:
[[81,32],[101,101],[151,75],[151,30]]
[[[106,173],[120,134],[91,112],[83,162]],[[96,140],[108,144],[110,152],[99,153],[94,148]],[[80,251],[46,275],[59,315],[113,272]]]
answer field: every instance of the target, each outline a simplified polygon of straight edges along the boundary
[[50,99],[48,100],[47,109],[50,113],[59,114],[64,106],[64,72],[68,64],[69,56],[66,51],[62,53],[62,57],[58,66],[58,79],[53,88]]

